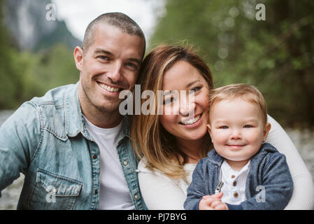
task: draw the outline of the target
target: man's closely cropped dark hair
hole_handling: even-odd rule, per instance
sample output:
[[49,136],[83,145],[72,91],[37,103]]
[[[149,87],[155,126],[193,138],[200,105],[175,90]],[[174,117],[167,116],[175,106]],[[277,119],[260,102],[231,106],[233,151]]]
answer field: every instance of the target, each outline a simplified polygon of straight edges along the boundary
[[[122,32],[132,35],[137,35],[141,37],[144,42],[144,52],[145,52],[145,36],[141,27],[138,26],[134,20],[129,18],[129,16],[124,13],[104,13],[99,15],[96,19],[92,20],[85,30],[85,35],[82,43],[82,49],[84,52],[90,48],[90,45],[94,43],[94,27],[99,23],[106,23],[113,27],[117,27]],[[144,55],[143,52],[143,55]]]

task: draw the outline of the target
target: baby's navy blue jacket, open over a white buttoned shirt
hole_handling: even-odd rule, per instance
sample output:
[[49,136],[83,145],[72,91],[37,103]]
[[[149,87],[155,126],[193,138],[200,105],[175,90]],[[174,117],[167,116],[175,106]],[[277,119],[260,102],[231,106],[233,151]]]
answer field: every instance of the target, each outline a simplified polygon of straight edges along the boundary
[[[194,169],[192,183],[187,188],[185,209],[199,209],[204,195],[214,195],[220,180],[220,169],[224,158],[212,150],[207,158],[199,160]],[[259,193],[264,189],[265,200]],[[262,144],[259,152],[250,161],[250,171],[245,183],[246,200],[241,204],[227,204],[229,210],[284,209],[292,196],[293,182],[285,155],[271,144]],[[257,199],[258,198],[258,199]]]

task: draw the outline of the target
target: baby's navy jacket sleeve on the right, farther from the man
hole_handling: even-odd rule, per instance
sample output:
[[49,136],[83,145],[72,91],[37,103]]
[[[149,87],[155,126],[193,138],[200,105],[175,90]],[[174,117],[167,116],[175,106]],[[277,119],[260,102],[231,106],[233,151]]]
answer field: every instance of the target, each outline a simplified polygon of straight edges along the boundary
[[254,197],[241,203],[243,209],[281,210],[287,206],[293,190],[292,176],[285,155],[276,153],[263,169],[262,186],[257,186]]

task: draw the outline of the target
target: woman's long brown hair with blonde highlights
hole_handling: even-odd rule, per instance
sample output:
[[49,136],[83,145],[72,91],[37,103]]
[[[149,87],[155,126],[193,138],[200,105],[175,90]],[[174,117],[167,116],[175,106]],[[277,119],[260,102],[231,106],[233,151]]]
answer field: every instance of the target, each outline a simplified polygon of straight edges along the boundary
[[[167,132],[159,122],[157,90],[162,90],[164,73],[180,60],[188,62],[198,69],[205,78],[208,89],[213,89],[210,69],[191,47],[159,45],[143,60],[137,81],[137,84],[141,85],[141,93],[145,90],[152,90],[155,93],[155,107],[153,108],[155,115],[149,113],[148,115],[131,116],[131,139],[136,155],[139,158],[145,156],[149,169],[158,169],[173,179],[185,178],[183,166],[188,158],[178,148],[176,137]],[[146,100],[141,99],[141,106]],[[206,157],[212,148],[208,133],[203,140],[202,158]]]

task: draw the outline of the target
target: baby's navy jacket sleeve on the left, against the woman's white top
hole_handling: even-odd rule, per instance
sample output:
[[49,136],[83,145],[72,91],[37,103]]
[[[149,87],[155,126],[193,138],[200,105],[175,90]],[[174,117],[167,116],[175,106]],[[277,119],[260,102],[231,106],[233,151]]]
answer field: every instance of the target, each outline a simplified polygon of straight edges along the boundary
[[204,160],[199,160],[192,175],[192,183],[187,188],[187,199],[184,203],[186,210],[199,210],[199,202],[208,193],[208,172]]

